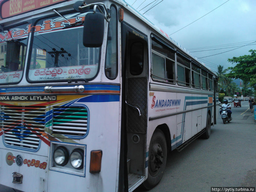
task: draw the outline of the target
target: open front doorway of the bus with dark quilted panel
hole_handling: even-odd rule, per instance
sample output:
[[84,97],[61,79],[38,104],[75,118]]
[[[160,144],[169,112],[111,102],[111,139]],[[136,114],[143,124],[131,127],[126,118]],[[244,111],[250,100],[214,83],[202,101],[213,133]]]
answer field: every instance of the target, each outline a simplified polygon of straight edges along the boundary
[[125,86],[125,97],[123,96],[122,98],[125,99],[123,102],[126,103],[127,169],[129,188],[131,188],[133,184],[131,183],[130,177],[136,176],[136,178],[143,179],[143,176],[145,176],[148,118],[148,48],[147,37],[141,32],[133,29],[124,22],[122,22],[121,29],[122,64],[125,66],[123,67],[125,71],[122,72],[123,81],[125,81],[125,84],[123,82]]

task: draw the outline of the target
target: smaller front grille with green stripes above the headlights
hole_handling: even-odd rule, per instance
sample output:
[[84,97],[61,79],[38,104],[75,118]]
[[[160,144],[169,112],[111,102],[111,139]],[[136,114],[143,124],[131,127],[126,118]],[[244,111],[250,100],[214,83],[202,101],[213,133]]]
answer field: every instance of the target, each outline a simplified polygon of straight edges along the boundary
[[88,110],[78,106],[53,107],[52,135],[82,139],[88,131]]

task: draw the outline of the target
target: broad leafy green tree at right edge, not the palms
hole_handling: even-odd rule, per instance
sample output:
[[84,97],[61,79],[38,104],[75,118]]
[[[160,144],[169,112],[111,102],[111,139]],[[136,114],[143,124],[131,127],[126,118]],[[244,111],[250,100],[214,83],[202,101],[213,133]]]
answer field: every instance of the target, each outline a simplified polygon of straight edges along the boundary
[[244,84],[250,84],[256,88],[256,50],[249,50],[251,55],[243,55],[228,59],[230,63],[237,63],[234,67],[228,67],[230,70],[228,77],[241,79]]

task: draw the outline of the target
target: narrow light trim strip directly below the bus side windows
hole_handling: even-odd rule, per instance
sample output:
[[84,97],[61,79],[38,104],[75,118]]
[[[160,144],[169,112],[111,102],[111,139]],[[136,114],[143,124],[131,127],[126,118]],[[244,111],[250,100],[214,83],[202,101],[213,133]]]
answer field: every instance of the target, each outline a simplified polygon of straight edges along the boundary
[[150,91],[168,91],[168,92],[178,92],[178,93],[192,93],[192,94],[202,94],[202,95],[213,95],[214,92],[204,91],[204,90],[195,90],[189,88],[181,88],[175,86],[168,86],[162,84],[154,84],[149,83],[149,90]]

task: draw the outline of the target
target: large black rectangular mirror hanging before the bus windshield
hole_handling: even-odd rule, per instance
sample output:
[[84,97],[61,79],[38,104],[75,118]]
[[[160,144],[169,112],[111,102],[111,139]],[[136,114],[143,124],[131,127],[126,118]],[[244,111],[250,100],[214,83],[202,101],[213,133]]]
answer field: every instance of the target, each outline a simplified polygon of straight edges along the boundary
[[104,36],[104,15],[87,13],[84,18],[83,44],[85,47],[100,47]]

